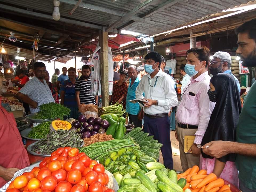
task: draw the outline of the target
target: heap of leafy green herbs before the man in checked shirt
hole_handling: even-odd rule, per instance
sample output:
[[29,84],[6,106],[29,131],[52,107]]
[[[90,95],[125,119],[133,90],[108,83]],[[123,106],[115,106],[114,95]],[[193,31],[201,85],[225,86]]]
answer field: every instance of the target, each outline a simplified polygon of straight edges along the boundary
[[54,119],[63,120],[64,116],[70,114],[70,109],[58,103],[46,103],[39,107],[40,111],[35,115],[35,119]]

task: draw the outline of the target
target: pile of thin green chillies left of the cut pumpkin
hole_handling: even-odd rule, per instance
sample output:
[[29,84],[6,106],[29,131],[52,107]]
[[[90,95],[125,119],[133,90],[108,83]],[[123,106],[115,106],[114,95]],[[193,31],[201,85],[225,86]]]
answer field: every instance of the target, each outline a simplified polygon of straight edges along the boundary
[[39,125],[33,127],[27,137],[33,138],[33,139],[43,139],[45,138],[45,135],[50,133],[50,125],[51,122],[43,122]]

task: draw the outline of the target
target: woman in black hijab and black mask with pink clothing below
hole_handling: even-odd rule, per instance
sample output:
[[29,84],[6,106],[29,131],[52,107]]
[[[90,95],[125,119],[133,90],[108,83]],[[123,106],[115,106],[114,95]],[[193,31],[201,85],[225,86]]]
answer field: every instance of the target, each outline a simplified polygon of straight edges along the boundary
[[[235,141],[236,127],[241,112],[241,100],[233,75],[219,73],[210,80],[208,91],[211,102],[216,102],[201,145],[210,141]],[[215,159],[202,152],[200,169],[207,174],[214,173],[238,186],[238,171],[235,166],[235,154],[227,154]]]

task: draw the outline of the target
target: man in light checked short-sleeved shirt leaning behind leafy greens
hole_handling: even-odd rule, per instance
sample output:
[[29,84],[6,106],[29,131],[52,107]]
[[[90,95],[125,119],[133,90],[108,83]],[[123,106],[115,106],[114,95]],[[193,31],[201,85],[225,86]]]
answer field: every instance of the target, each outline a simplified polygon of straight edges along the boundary
[[35,77],[29,80],[24,87],[19,90],[17,97],[29,104],[30,112],[39,111],[39,106],[45,103],[54,102],[53,95],[45,81],[46,67],[42,62],[34,63]]

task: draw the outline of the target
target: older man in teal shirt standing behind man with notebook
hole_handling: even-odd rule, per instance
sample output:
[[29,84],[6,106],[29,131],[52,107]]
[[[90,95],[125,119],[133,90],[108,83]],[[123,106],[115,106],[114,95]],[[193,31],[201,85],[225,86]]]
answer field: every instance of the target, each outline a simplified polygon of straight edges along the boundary
[[[142,127],[142,118],[138,119],[139,113],[142,113],[139,103],[131,103],[130,100],[136,99],[135,91],[139,85],[139,78],[137,68],[134,65],[128,67],[128,74],[130,77],[129,87],[126,96],[126,112],[129,115],[130,123],[134,123],[135,127]],[[142,116],[142,115],[141,115]]]

